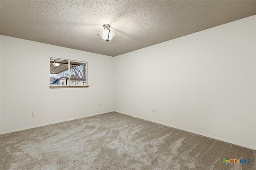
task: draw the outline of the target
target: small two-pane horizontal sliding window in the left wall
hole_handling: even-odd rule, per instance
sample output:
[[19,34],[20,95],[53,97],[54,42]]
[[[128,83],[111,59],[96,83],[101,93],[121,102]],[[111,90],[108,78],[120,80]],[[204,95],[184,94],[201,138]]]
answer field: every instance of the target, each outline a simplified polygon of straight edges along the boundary
[[89,87],[87,62],[50,58],[50,88]]

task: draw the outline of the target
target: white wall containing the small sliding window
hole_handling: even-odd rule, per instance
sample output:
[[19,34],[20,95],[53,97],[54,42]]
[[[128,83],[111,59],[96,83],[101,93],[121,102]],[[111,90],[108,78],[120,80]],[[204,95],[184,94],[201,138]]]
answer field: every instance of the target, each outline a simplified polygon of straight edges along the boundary
[[[1,134],[113,111],[113,57],[0,38]],[[50,89],[50,57],[88,61],[90,87]],[[30,112],[35,112],[35,117],[30,117]]]

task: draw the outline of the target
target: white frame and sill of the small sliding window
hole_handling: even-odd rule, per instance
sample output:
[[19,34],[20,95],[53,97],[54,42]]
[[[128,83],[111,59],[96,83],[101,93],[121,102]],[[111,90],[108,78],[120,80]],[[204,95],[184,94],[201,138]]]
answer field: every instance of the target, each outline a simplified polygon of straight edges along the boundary
[[[69,85],[50,85],[50,89],[58,89],[58,88],[88,88],[88,62],[86,61],[78,61],[78,60],[71,60],[71,59],[62,59],[62,58],[54,58],[50,57],[49,59],[56,59],[56,60],[66,60],[68,61],[68,84]],[[70,62],[78,62],[78,63],[85,63],[85,76],[86,76],[86,85],[70,85],[71,77],[70,77]],[[49,68],[50,69],[50,68]]]

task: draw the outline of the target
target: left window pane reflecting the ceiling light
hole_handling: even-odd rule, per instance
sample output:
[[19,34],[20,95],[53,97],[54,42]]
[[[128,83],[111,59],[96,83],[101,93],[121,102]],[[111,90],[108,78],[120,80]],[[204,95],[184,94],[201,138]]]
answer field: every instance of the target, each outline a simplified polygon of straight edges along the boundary
[[50,58],[50,85],[69,85],[67,60]]

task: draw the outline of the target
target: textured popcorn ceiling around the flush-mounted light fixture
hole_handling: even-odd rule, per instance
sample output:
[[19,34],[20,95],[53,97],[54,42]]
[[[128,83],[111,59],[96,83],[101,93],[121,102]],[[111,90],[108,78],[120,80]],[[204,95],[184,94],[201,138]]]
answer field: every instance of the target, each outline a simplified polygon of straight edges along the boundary
[[[256,1],[0,1],[1,34],[116,56],[256,14]],[[110,24],[110,41],[97,34]]]

